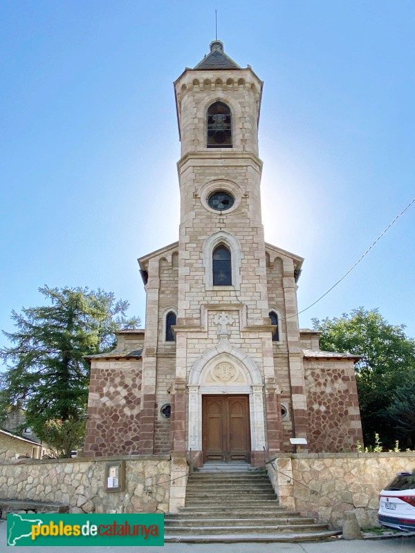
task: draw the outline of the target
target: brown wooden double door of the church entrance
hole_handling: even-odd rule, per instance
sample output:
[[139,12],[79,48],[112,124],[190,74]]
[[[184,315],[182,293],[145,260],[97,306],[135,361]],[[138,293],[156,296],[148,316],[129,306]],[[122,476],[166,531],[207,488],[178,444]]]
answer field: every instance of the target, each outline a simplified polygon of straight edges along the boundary
[[205,461],[250,461],[248,395],[202,396]]

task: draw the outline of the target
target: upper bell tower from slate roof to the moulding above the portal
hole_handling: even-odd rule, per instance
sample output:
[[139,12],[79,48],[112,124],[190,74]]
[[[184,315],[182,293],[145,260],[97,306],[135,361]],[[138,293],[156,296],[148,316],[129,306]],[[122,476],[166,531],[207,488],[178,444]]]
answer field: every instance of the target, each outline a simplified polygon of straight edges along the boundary
[[[243,301],[249,324],[264,324],[268,303],[258,158],[262,82],[214,41],[210,54],[186,69],[174,86],[181,137],[178,317],[185,324],[201,324],[201,303]],[[235,257],[226,283],[212,280],[208,253],[216,242]]]

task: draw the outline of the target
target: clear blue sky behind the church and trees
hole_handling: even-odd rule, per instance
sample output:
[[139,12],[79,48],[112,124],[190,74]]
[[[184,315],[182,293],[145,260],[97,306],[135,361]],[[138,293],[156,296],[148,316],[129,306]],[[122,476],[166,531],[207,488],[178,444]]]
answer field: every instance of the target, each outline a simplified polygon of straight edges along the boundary
[[[413,0],[0,2],[0,328],[37,288],[112,290],[178,239],[172,82],[219,38],[264,79],[266,241],[303,256],[299,310],[415,196]],[[415,336],[415,205],[300,316],[377,307]],[[0,339],[0,344],[4,339]]]

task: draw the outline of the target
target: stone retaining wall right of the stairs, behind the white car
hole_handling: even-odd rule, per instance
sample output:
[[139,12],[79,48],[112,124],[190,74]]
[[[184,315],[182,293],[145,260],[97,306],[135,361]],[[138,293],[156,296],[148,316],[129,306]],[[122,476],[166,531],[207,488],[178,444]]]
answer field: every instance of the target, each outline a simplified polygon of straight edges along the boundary
[[413,470],[415,451],[285,454],[268,463],[282,505],[335,528],[352,509],[360,527],[377,526],[379,491],[397,472]]

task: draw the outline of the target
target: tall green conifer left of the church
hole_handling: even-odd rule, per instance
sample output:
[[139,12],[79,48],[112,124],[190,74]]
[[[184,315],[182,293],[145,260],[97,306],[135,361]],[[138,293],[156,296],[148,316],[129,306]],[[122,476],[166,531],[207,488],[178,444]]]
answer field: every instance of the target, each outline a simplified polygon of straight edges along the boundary
[[89,364],[84,355],[111,350],[114,332],[137,326],[139,319],[127,318],[128,302],[116,300],[112,292],[48,286],[39,292],[49,305],[13,311],[17,330],[3,331],[12,346],[0,349],[0,359],[8,364],[0,375],[1,410],[10,404],[25,409],[37,436],[68,456],[82,439],[86,415]]

